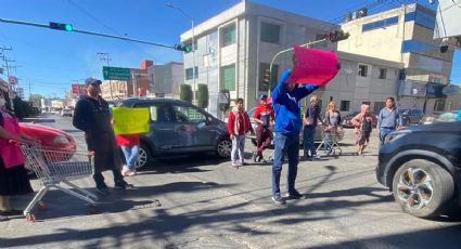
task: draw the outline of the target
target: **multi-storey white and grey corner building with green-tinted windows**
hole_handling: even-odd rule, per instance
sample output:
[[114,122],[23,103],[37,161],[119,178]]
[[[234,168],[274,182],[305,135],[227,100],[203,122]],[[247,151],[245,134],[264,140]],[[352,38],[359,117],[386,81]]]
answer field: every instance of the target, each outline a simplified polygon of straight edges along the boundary
[[[195,86],[208,86],[208,110],[218,117],[221,112],[217,96],[221,89],[228,89],[231,99],[243,97],[245,108],[251,108],[269,90],[262,73],[277,52],[317,40],[332,28],[336,26],[242,1],[194,28],[195,52],[184,54],[185,82],[194,88],[195,77]],[[181,35],[181,42],[191,41],[192,30]],[[291,54],[276,61],[272,87],[280,73],[291,67]]]

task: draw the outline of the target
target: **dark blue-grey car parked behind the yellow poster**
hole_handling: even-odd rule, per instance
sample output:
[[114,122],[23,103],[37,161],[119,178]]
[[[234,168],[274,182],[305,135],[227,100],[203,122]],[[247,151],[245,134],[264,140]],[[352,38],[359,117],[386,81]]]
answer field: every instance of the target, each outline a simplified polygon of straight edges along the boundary
[[140,135],[138,169],[156,156],[215,152],[230,157],[227,123],[188,102],[171,99],[128,99],[117,106],[149,107],[150,132]]

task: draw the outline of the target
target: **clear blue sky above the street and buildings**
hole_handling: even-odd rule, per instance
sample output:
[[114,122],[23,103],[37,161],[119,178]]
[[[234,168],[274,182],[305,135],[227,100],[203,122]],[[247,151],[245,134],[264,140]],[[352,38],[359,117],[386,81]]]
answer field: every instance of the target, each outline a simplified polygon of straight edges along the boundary
[[[381,0],[371,9],[380,12],[415,0]],[[170,3],[192,16],[195,26],[219,14],[240,0],[0,0],[0,18],[38,24],[72,24],[74,28],[174,45],[191,28],[191,19]],[[341,16],[377,0],[252,0],[252,2],[338,23]],[[428,0],[418,0],[428,5]],[[154,64],[182,62],[182,52],[168,48],[118,39],[67,32],[49,28],[0,22],[0,48],[10,62],[10,75],[20,80],[25,97],[41,94],[63,97],[71,84],[88,77],[102,78],[106,62],[98,53],[108,53],[111,66],[139,68],[142,60]],[[1,52],[1,50],[0,50]],[[4,62],[1,62],[4,65]],[[2,66],[0,64],[0,66]],[[7,79],[5,74],[0,75]],[[451,73],[452,82],[461,82],[461,52],[458,50]]]

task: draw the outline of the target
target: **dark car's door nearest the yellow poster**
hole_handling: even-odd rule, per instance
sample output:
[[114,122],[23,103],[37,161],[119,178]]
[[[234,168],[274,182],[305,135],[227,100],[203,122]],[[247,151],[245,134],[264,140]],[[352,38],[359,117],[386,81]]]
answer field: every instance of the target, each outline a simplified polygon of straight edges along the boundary
[[169,152],[179,146],[176,119],[169,103],[141,103],[135,107],[149,107],[150,131],[145,135],[157,152]]

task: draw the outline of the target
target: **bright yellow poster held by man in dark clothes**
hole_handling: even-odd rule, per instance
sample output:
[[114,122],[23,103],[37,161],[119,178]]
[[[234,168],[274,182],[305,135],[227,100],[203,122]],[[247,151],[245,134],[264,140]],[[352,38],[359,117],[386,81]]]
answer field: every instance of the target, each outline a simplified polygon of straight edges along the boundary
[[113,107],[115,134],[149,132],[149,108]]

